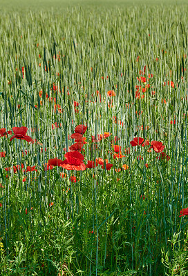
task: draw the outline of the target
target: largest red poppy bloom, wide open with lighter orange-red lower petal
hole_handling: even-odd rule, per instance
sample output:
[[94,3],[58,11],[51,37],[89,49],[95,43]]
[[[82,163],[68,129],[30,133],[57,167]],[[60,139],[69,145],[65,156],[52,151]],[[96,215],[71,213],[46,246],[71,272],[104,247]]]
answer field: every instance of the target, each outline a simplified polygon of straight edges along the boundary
[[86,170],[84,156],[77,150],[66,152],[64,157],[66,159],[60,165],[62,168],[66,168],[66,170]]

